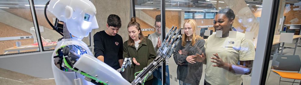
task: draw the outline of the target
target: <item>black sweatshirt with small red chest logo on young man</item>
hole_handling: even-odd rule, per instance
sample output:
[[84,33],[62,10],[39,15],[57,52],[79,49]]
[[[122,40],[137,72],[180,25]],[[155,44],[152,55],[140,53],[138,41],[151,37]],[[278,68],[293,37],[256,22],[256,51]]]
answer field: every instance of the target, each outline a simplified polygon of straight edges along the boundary
[[104,62],[114,68],[119,69],[118,60],[123,59],[123,41],[120,35],[108,35],[104,30],[94,34],[95,57],[104,56]]

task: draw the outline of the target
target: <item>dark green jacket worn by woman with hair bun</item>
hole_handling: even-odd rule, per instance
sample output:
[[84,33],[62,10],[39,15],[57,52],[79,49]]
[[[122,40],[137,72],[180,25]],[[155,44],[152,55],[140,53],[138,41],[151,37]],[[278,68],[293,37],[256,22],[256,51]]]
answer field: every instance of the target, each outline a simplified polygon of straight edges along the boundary
[[[129,82],[133,82],[135,79],[134,74],[143,70],[144,67],[149,65],[156,58],[156,53],[154,50],[153,43],[150,39],[142,40],[142,42],[138,46],[138,50],[136,50],[135,46],[129,46],[127,41],[123,43],[123,58],[132,58],[132,66],[127,67],[125,71],[122,73],[123,77]],[[133,63],[133,58],[136,58],[137,62],[140,65],[136,65]],[[136,74],[136,76],[139,73]],[[148,77],[147,80],[153,79],[153,75]]]

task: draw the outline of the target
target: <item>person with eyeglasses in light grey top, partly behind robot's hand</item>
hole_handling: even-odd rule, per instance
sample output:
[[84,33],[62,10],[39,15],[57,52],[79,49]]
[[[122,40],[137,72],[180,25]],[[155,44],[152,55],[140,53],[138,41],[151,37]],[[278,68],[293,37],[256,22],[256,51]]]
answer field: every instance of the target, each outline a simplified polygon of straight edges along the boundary
[[[151,40],[151,42],[153,42],[153,46],[154,46],[154,49],[156,51],[156,56],[158,56],[159,54],[159,48],[161,47],[161,15],[156,15],[156,21],[155,21],[155,28],[156,28],[156,32],[149,35],[148,36],[148,39]],[[166,85],[169,85],[169,69],[168,69],[168,58],[165,59],[165,62],[166,62],[166,73],[165,75],[165,78],[166,78]],[[153,85],[161,85],[161,82],[162,82],[162,64],[158,66],[158,69],[154,70],[153,72],[153,75],[154,75],[154,78],[153,78]]]

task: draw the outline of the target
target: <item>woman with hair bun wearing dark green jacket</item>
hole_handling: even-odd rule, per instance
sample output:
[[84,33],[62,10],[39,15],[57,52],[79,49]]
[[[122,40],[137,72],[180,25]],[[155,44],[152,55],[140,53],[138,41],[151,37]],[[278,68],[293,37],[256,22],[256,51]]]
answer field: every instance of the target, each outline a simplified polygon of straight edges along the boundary
[[[133,82],[136,72],[143,70],[156,58],[153,43],[150,39],[146,39],[140,28],[140,24],[133,17],[127,26],[129,32],[129,40],[123,43],[123,58],[132,58],[132,66],[127,67],[122,73],[123,77],[129,82]],[[138,75],[138,73],[136,74]],[[151,85],[153,75],[148,77],[144,85]]]

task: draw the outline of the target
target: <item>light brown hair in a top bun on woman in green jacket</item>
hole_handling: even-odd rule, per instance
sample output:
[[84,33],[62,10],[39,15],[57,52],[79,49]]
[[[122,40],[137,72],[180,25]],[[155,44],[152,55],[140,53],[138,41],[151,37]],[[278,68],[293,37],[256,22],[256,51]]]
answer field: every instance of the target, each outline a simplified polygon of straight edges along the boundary
[[[134,26],[134,27],[136,27],[136,29],[139,31],[140,30],[140,33],[139,33],[139,35],[140,35],[140,42],[139,42],[139,44],[142,42],[142,41],[145,41],[145,37],[143,36],[143,34],[142,34],[142,31],[141,31],[141,28],[140,28],[140,24],[138,23],[138,22],[136,22],[136,18],[135,17],[132,17],[132,19],[131,19],[131,22],[129,22],[129,24],[127,25],[127,29],[129,29],[129,27],[131,27],[131,26]],[[130,35],[129,35],[129,40],[127,41],[127,44],[129,45],[129,46],[134,46],[135,45],[135,42],[134,42],[134,40],[130,37]]]

